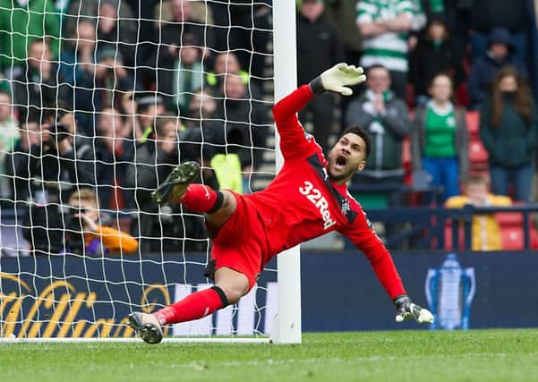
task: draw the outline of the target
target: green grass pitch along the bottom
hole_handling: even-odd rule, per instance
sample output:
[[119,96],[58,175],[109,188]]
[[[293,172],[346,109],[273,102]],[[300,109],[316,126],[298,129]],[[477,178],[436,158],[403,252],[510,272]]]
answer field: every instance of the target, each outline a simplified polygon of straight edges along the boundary
[[536,381],[538,329],[304,334],[303,344],[0,344],[2,381]]

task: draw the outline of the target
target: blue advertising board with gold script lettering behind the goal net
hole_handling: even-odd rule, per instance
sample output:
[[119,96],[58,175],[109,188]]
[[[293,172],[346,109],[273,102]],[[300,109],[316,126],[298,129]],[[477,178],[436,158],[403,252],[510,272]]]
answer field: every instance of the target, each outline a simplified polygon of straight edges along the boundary
[[[154,311],[210,286],[205,254],[167,258],[0,258],[0,336],[132,336],[132,310]],[[188,268],[188,271],[186,270]],[[269,334],[278,306],[276,272],[234,307],[167,328],[167,335]],[[265,307],[265,309],[259,309]]]

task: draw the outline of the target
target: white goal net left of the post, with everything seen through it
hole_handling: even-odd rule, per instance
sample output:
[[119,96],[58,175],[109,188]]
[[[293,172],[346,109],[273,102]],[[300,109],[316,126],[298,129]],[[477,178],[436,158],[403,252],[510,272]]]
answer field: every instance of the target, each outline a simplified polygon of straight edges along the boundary
[[[274,176],[272,19],[262,0],[0,2],[0,337],[133,338],[131,311],[210,286],[202,216],[150,193],[186,160],[215,188]],[[276,269],[166,335],[267,337]]]

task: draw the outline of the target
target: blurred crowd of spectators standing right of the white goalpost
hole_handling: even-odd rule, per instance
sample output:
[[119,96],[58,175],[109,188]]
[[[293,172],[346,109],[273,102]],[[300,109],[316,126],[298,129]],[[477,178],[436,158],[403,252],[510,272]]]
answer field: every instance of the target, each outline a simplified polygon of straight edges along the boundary
[[[431,191],[423,203],[443,203],[479,173],[491,180],[495,194],[535,199],[534,2],[303,0],[297,19],[300,82],[312,80],[308,47],[314,43],[311,49],[323,56],[318,61],[329,60],[329,52],[339,57],[343,49],[351,64],[367,70],[366,87],[356,98],[326,102],[340,107],[338,128],[358,123],[371,133],[374,155],[354,177],[356,190],[392,189],[385,191],[390,206],[401,204],[402,187],[420,183],[416,188]],[[480,115],[476,126],[467,123],[474,122],[466,118],[470,113]],[[310,122],[315,132],[322,129],[314,113]],[[470,136],[473,130],[476,136]],[[474,166],[472,141],[489,157],[486,168]]]

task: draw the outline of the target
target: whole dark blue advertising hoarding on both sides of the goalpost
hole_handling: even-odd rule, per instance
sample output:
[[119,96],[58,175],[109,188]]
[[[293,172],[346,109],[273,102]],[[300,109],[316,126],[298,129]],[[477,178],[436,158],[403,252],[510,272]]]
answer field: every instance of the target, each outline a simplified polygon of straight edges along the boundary
[[[132,310],[152,311],[209,287],[205,259],[0,258],[1,335],[132,336],[125,325]],[[394,260],[409,295],[436,315],[431,328],[538,326],[534,254],[395,254]],[[238,307],[167,334],[269,334],[276,277],[264,272]],[[353,251],[303,253],[302,301],[304,331],[423,328],[394,322],[392,302],[368,261]]]

